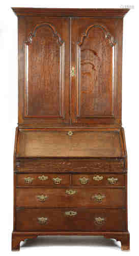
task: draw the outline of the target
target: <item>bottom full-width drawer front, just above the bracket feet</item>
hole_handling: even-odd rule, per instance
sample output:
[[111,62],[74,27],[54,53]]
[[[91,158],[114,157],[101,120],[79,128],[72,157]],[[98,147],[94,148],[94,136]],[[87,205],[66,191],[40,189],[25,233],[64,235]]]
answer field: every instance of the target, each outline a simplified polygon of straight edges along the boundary
[[125,231],[125,209],[17,209],[17,231]]

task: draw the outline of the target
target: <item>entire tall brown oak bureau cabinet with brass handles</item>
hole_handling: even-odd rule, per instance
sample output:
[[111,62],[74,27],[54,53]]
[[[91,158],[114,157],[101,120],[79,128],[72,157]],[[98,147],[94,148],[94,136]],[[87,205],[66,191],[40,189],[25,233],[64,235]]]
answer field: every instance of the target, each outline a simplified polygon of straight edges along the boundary
[[12,9],[19,95],[12,250],[47,235],[104,236],[128,250],[121,104],[129,9]]

